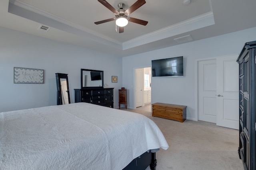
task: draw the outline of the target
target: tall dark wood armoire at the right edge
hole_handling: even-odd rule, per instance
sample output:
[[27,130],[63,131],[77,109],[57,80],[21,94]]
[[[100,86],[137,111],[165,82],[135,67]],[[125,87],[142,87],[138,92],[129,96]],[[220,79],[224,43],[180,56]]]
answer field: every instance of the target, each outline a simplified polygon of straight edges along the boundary
[[256,41],[245,43],[239,63],[239,147],[238,154],[245,170],[256,170],[255,131],[255,65]]

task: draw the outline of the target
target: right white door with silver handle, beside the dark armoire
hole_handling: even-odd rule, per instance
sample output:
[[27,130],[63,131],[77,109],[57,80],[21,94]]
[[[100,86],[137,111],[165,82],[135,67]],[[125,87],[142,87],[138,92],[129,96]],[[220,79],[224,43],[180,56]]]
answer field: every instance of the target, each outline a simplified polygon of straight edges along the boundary
[[217,58],[217,125],[239,128],[239,64],[237,55]]

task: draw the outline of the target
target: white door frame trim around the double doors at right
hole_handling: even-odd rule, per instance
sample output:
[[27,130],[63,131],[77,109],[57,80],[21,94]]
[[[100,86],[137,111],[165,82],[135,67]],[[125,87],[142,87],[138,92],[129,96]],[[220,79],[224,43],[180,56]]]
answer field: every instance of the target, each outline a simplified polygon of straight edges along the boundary
[[209,58],[203,58],[203,59],[196,59],[196,63],[195,63],[195,66],[196,66],[196,72],[195,72],[195,78],[196,78],[196,81],[195,81],[195,92],[196,92],[196,95],[195,95],[195,121],[198,121],[198,117],[199,117],[199,112],[198,112],[198,110],[199,110],[199,106],[198,106],[198,104],[199,104],[199,96],[198,96],[198,63],[200,62],[200,61],[204,61],[204,60],[212,60],[212,59],[217,59],[218,57],[228,57],[228,56],[234,56],[234,55],[238,55],[238,54],[232,54],[232,55],[222,55],[222,56],[217,56],[217,57],[209,57]]

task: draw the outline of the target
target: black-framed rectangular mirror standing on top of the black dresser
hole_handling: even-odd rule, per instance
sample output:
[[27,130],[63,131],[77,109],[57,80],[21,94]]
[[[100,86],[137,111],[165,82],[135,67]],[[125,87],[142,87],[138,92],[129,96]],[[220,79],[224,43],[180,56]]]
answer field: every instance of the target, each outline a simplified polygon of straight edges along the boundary
[[81,69],[81,88],[103,88],[103,71]]

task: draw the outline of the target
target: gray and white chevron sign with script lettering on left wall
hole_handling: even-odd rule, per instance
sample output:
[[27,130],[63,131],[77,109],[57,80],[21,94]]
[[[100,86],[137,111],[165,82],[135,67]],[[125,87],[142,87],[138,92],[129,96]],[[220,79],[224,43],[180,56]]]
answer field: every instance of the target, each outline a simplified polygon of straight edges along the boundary
[[14,83],[44,83],[44,70],[14,67]]

